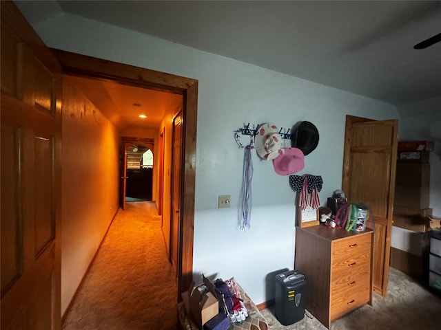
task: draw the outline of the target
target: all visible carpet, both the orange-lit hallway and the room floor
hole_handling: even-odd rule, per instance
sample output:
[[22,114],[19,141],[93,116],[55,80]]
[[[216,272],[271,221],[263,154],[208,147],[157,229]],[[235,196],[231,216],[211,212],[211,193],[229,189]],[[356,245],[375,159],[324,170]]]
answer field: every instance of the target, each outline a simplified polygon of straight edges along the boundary
[[[127,210],[116,214],[63,330],[177,329],[173,278],[155,204],[127,203]],[[307,316],[294,325],[280,325],[274,307],[262,314],[273,330],[326,329]],[[372,307],[332,322],[331,330],[435,330],[441,329],[440,316],[440,296],[391,268],[387,297],[373,294]]]

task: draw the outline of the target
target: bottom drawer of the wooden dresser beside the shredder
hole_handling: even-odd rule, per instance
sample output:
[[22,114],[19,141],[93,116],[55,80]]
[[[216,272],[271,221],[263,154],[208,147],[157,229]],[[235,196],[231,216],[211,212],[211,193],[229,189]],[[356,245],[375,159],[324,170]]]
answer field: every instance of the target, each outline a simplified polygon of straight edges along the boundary
[[370,285],[356,285],[347,289],[345,292],[331,295],[329,306],[329,316],[331,320],[336,320],[353,309],[362,307],[369,302]]

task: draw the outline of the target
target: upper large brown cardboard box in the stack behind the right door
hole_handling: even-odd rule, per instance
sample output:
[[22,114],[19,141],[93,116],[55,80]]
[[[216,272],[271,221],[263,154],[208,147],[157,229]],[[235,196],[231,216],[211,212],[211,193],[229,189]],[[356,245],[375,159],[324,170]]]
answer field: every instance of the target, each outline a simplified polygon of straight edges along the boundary
[[430,164],[397,163],[396,186],[429,186]]

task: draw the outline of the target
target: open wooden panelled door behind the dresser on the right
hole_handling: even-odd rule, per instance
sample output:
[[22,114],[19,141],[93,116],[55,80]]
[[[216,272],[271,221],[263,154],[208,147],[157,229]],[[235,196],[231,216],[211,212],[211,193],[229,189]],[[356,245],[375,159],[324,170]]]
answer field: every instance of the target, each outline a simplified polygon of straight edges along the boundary
[[373,213],[373,290],[383,296],[389,274],[397,144],[398,120],[347,116],[342,189],[349,201],[365,203]]

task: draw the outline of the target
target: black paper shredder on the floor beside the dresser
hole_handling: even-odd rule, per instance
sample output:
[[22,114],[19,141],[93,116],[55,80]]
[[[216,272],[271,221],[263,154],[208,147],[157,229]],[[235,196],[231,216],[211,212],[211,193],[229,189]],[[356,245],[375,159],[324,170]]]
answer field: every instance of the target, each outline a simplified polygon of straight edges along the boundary
[[278,322],[292,325],[305,316],[307,278],[296,270],[276,275],[275,311]]

